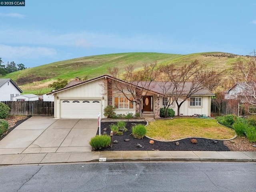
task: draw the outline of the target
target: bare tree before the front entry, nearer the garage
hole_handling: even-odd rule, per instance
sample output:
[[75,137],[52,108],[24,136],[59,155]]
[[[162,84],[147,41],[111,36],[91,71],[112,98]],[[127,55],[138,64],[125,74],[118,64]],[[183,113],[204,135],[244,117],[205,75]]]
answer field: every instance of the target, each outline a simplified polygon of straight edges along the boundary
[[147,95],[150,84],[159,75],[157,62],[144,64],[141,70],[135,71],[133,65],[128,65],[125,72],[120,74],[117,67],[108,68],[109,74],[114,78],[108,83],[108,88],[116,94],[122,94],[130,102],[136,104],[136,111],[142,113],[142,94]]

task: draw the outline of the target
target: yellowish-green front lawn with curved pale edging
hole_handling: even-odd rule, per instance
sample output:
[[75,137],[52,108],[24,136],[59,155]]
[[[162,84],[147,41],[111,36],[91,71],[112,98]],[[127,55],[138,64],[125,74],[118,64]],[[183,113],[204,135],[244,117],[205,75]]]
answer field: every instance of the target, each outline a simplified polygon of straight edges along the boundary
[[226,128],[212,119],[174,118],[173,120],[156,120],[147,126],[146,136],[162,141],[178,140],[186,137],[203,137],[212,139],[231,139],[234,130]]

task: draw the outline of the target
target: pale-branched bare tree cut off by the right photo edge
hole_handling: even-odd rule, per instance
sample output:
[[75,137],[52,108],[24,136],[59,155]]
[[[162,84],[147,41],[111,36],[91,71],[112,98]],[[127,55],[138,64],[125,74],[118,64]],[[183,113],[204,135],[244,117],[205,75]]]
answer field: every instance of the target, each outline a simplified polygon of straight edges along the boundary
[[[256,52],[251,53],[251,56],[238,58],[233,66],[234,79],[239,86],[238,100],[247,105],[256,106]],[[250,114],[250,107],[248,107]]]

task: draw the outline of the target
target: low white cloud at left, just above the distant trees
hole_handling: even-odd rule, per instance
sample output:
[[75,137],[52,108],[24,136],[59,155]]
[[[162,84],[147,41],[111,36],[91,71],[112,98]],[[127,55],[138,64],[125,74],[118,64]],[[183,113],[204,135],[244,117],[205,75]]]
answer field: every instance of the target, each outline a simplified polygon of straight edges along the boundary
[[1,56],[7,58],[7,60],[15,60],[16,58],[44,58],[54,57],[57,53],[52,48],[46,47],[29,47],[29,46],[8,46],[0,44]]

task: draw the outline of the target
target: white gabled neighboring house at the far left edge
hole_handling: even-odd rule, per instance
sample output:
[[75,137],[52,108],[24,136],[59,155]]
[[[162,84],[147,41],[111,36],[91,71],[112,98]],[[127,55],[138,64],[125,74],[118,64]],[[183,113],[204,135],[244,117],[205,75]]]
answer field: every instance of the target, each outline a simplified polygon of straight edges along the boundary
[[13,82],[12,79],[0,78],[0,101],[12,101],[14,96],[18,96],[22,90]]

